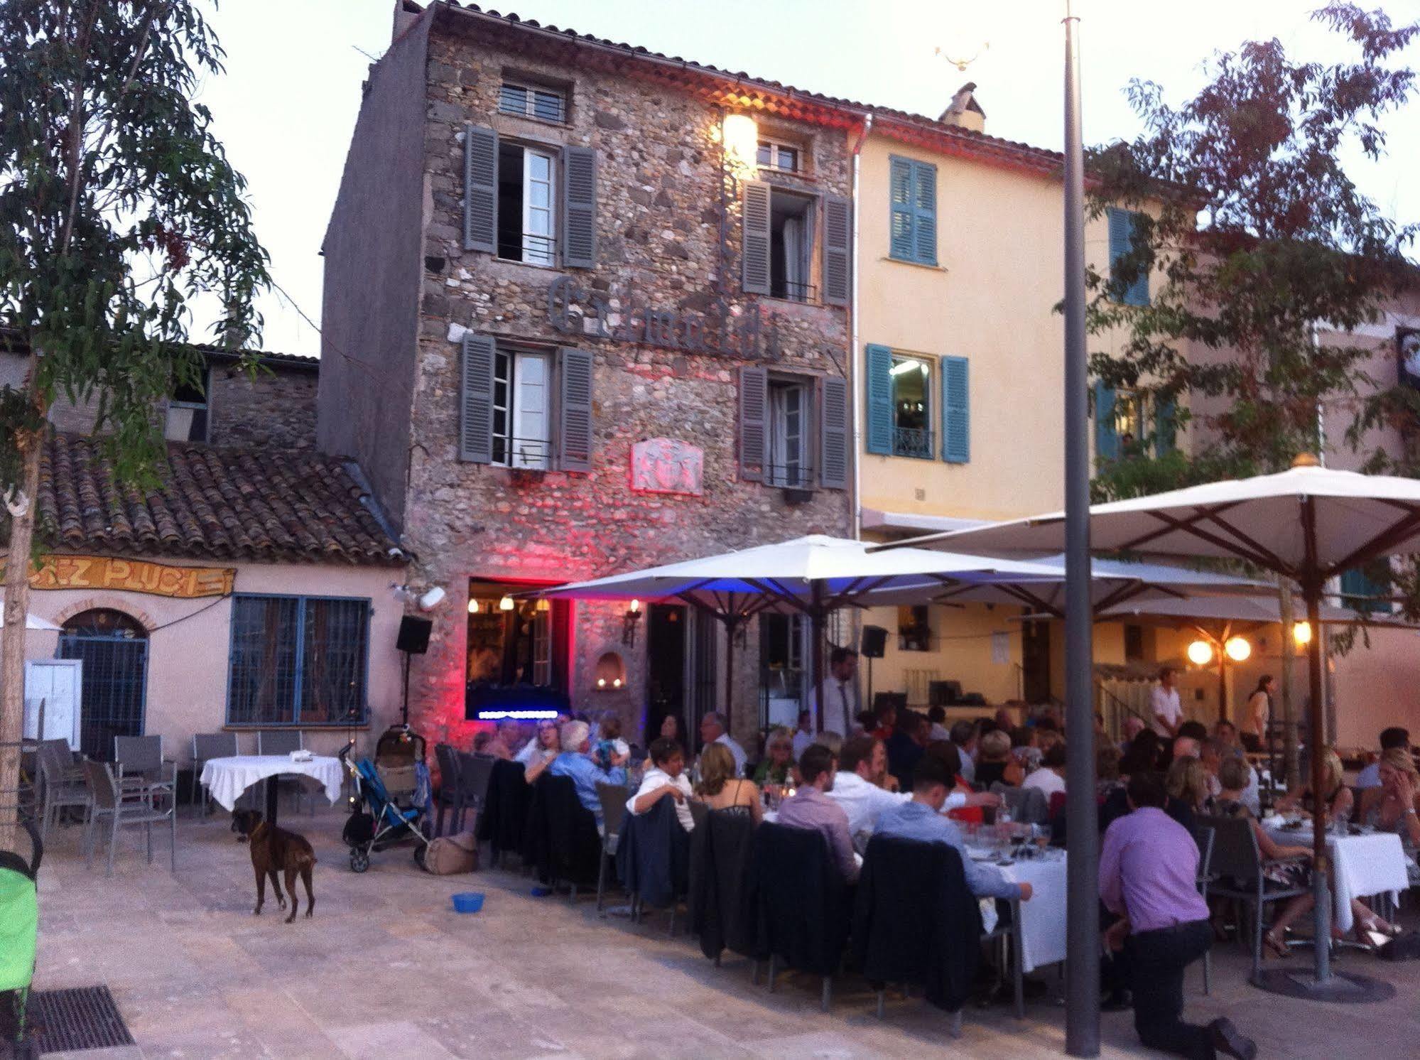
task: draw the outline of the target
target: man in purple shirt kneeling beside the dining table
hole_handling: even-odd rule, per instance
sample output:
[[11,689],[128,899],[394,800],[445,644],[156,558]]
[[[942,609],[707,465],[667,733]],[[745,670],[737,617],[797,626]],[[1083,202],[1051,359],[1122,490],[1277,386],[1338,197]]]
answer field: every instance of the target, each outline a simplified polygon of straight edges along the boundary
[[1252,1060],[1257,1044],[1228,1019],[1208,1026],[1183,1022],[1183,973],[1208,952],[1213,928],[1198,894],[1198,847],[1163,811],[1163,777],[1129,779],[1132,813],[1105,833],[1099,898],[1119,916],[1105,942],[1123,949],[1135,993],[1135,1032],[1150,1049],[1213,1060],[1218,1053]]

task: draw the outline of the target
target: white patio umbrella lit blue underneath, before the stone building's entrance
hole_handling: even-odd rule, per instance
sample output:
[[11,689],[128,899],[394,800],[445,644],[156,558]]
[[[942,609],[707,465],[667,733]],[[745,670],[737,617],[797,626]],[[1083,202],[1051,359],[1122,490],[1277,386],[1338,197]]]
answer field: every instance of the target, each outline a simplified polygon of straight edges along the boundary
[[[554,600],[682,600],[713,614],[730,634],[726,675],[733,681],[734,632],[761,611],[805,615],[812,624],[818,726],[824,726],[824,622],[829,611],[861,604],[868,594],[927,595],[993,577],[1055,580],[1044,564],[964,556],[941,550],[875,551],[868,541],[811,534],[778,544],[612,574],[538,593]],[[727,685],[728,688],[730,685]]]

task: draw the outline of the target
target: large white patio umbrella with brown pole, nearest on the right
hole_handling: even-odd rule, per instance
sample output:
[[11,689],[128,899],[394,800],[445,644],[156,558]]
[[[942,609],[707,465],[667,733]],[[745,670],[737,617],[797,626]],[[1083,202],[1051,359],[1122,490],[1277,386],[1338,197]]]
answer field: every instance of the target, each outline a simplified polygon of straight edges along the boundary
[[[1306,618],[1321,625],[1325,584],[1369,560],[1420,551],[1420,480],[1332,470],[1304,455],[1285,472],[1133,497],[1089,510],[1091,547],[1152,556],[1241,558],[1292,578],[1306,601]],[[1065,544],[1065,513],[998,523],[977,530],[932,534],[909,546],[964,547],[991,553],[1045,551]],[[1321,637],[1308,647],[1311,688],[1312,790],[1322,789]],[[1326,939],[1331,912],[1326,888],[1325,806],[1312,820],[1316,889],[1315,988],[1335,1000],[1362,999],[1356,976],[1332,985]],[[1269,983],[1282,989],[1279,983]],[[1333,989],[1339,988],[1339,989]],[[1345,989],[1350,988],[1350,989]],[[1318,996],[1318,989],[1311,990]]]

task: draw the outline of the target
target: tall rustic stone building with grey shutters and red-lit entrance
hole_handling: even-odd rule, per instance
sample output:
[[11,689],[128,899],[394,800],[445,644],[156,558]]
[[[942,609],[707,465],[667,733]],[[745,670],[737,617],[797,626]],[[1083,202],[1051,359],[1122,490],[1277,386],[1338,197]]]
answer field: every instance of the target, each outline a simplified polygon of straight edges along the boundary
[[[771,82],[473,6],[402,3],[325,237],[318,439],[442,587],[412,719],[726,703],[683,607],[534,604],[572,578],[851,531],[858,118]],[[642,617],[643,615],[643,617]],[[802,679],[751,629],[728,696]],[[645,712],[645,713],[643,713]]]

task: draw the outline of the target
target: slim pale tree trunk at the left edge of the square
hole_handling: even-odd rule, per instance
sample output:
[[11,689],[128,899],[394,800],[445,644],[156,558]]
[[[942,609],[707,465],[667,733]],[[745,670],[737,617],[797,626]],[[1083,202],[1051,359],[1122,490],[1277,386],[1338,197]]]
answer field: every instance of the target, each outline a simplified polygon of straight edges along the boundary
[[34,540],[44,435],[24,432],[17,442],[24,460],[18,485],[26,506],[24,512],[10,520],[10,553],[4,566],[4,629],[0,629],[0,850],[14,848],[14,823],[18,818],[20,739],[24,735],[24,617],[30,610],[30,543]]

